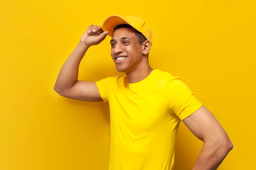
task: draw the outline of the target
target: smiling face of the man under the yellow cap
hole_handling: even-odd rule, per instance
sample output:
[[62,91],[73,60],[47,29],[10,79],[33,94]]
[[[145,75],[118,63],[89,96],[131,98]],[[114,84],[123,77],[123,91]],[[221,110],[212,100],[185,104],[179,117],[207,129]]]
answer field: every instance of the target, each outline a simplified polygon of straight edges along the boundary
[[112,35],[111,56],[117,71],[130,73],[138,69],[143,62],[143,45],[139,44],[135,31],[122,28],[114,31]]

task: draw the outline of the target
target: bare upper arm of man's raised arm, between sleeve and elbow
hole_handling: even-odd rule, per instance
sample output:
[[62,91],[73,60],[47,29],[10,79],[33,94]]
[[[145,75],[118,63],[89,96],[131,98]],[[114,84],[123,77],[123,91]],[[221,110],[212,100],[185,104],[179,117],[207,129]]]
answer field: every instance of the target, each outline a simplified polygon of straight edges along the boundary
[[95,82],[78,80],[72,88],[63,94],[64,97],[85,102],[102,102],[99,89]]

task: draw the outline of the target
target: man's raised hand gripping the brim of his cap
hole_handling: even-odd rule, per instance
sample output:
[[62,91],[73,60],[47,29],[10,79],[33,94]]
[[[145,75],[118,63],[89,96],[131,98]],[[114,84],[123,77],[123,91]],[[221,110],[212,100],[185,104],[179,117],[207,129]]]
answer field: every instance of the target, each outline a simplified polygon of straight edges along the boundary
[[107,35],[108,31],[103,32],[101,26],[90,25],[87,31],[82,35],[80,41],[89,47],[99,44],[106,38]]

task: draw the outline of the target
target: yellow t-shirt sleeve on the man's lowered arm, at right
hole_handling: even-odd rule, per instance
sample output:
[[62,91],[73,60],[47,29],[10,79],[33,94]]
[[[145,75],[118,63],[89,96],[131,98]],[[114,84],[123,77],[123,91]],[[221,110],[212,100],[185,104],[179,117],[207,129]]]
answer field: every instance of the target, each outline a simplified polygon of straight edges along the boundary
[[169,111],[181,120],[194,113],[202,104],[179,77],[168,84]]

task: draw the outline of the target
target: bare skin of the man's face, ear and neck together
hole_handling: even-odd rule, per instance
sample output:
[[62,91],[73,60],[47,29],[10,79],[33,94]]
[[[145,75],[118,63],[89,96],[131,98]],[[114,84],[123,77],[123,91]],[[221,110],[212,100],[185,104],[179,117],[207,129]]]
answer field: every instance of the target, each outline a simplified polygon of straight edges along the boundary
[[[112,35],[111,56],[117,71],[124,72],[129,83],[139,82],[153,70],[148,63],[150,42],[139,44],[134,29],[117,29]],[[121,60],[117,60],[117,58]]]

